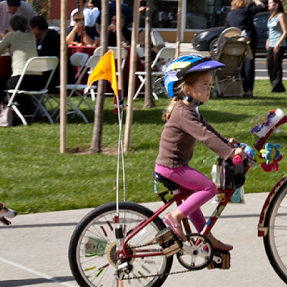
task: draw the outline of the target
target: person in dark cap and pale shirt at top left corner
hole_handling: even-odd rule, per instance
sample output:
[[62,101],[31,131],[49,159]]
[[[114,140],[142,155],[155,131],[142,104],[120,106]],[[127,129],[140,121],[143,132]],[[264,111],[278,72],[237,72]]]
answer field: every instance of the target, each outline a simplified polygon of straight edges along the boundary
[[26,2],[20,0],[5,0],[0,2],[0,34],[11,31],[10,20],[15,14],[22,14],[28,20],[34,15],[33,8]]

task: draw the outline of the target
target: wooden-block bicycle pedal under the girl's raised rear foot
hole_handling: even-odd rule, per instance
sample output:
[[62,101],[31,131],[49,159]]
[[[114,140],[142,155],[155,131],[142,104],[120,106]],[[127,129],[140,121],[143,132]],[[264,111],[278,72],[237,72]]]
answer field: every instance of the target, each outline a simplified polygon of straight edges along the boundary
[[172,232],[170,227],[164,228],[156,234],[156,242],[162,247],[166,257],[170,257],[181,251],[182,244]]

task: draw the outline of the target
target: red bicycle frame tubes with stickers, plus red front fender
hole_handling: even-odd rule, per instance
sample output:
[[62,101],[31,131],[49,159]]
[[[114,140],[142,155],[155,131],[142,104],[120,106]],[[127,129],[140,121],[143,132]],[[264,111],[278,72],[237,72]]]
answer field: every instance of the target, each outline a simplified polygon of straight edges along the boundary
[[[279,127],[280,125],[283,125],[284,123],[287,122],[287,116],[284,116],[276,125],[275,127]],[[271,133],[273,132],[274,128],[271,129],[270,131],[267,132],[267,134],[265,135],[265,137],[261,137],[258,139],[257,143],[255,144],[255,148],[257,150],[261,150],[263,145],[266,143],[267,139],[269,138],[269,136],[271,135]],[[249,170],[250,166],[248,164],[245,163],[245,174],[247,173],[247,171]],[[267,228],[264,229],[264,219],[265,219],[265,214],[267,212],[267,209],[269,207],[269,204],[272,200],[272,198],[274,197],[274,195],[276,194],[276,192],[278,191],[278,186],[280,187],[284,182],[287,181],[287,177],[284,177],[282,179],[280,179],[280,181],[278,181],[278,183],[274,186],[274,188],[272,189],[272,191],[270,191],[264,205],[263,205],[263,209],[261,211],[261,215],[260,215],[260,220],[259,220],[259,225],[258,225],[258,236],[265,236],[267,234]],[[201,232],[202,235],[206,235],[208,234],[208,232],[210,232],[210,230],[212,229],[212,227],[214,226],[214,224],[216,223],[216,221],[218,220],[218,218],[220,217],[222,211],[224,210],[224,208],[226,207],[227,203],[230,201],[233,193],[235,192],[236,189],[218,189],[217,193],[224,193],[225,194],[225,199],[223,201],[220,201],[218,203],[218,205],[216,206],[214,212],[212,213],[212,215],[210,216],[209,220],[207,221],[205,227],[203,228],[203,231]],[[168,191],[164,192],[164,193],[168,193]],[[148,220],[143,220],[142,222],[140,222],[139,224],[137,224],[133,230],[130,230],[128,236],[125,238],[124,242],[123,242],[123,250],[120,251],[123,253],[123,255],[125,256],[125,258],[143,258],[143,257],[150,257],[150,256],[161,256],[164,255],[164,253],[162,251],[157,251],[155,249],[151,249],[151,252],[149,251],[149,253],[147,253],[147,249],[137,249],[136,253],[141,253],[141,254],[130,254],[127,251],[127,242],[133,237],[135,236],[139,231],[141,231],[146,225],[148,225],[150,222],[152,222],[156,217],[158,217],[164,210],[166,210],[172,203],[176,202],[177,206],[180,205],[182,203],[182,200],[186,199],[186,197],[189,195],[186,194],[175,194],[170,200],[168,200],[164,205],[162,205],[158,210],[156,210],[156,212],[154,213],[154,215],[149,218]],[[189,224],[187,223],[187,220],[184,219],[183,220],[183,226],[185,228],[185,232],[186,234],[189,234],[191,232],[191,228],[189,226]],[[150,242],[147,242],[146,245],[148,245]]]

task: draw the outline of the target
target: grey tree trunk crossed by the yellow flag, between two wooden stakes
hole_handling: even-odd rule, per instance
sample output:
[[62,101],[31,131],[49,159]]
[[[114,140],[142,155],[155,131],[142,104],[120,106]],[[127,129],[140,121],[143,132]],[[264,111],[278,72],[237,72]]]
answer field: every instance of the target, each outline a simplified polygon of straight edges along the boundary
[[[108,48],[108,1],[102,1],[101,9],[101,57],[106,53]],[[98,92],[96,98],[94,129],[90,153],[100,153],[102,151],[102,131],[104,122],[104,94],[106,90],[106,81],[98,80]]]

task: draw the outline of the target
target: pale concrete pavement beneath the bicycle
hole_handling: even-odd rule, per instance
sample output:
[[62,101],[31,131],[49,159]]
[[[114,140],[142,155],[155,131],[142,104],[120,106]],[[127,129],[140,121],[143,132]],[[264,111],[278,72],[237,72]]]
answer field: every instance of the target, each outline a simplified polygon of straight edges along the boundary
[[[234,246],[229,270],[203,269],[170,275],[163,286],[286,286],[272,269],[262,238],[257,237],[259,214],[266,197],[267,193],[245,194],[246,203],[228,204],[214,226],[214,235]],[[143,205],[155,210],[160,204]],[[209,216],[215,206],[206,203],[203,214]],[[11,226],[1,226],[0,286],[77,286],[69,269],[67,250],[77,222],[90,210],[20,215],[11,220]],[[171,271],[182,269],[174,257]]]

